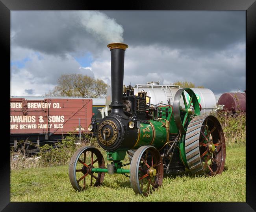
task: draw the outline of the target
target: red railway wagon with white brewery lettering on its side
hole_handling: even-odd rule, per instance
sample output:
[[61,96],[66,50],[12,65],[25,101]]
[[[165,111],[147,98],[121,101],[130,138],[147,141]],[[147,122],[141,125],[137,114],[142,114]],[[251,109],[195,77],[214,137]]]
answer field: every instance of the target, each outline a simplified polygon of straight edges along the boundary
[[10,98],[10,142],[28,139],[41,143],[60,140],[70,132],[78,135],[79,130],[89,133],[92,115],[92,99]]

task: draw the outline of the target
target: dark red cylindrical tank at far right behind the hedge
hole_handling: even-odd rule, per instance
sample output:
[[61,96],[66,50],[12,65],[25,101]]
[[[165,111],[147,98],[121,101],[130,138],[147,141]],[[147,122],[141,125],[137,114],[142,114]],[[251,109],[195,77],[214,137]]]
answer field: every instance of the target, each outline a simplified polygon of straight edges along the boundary
[[246,111],[246,93],[223,93],[218,104],[224,104],[224,110],[235,113],[237,110]]

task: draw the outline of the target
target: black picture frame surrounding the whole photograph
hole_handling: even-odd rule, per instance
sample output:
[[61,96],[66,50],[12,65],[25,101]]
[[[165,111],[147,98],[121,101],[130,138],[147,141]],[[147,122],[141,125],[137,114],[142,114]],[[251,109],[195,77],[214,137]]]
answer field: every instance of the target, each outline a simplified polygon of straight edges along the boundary
[[[7,69],[10,69],[10,11],[14,10],[246,10],[246,84],[249,86],[249,81],[253,80],[253,71],[256,70],[254,62],[254,49],[256,49],[256,2],[255,0],[130,0],[126,1],[124,7],[121,7],[120,1],[102,1],[93,2],[88,0],[1,0],[0,1],[0,42],[1,50],[4,52],[2,58],[2,79],[7,75]],[[10,77],[10,75],[9,75]],[[8,75],[7,75],[8,79]],[[7,80],[6,80],[7,81]],[[9,110],[9,95],[6,92],[5,80],[2,81],[2,117],[4,117],[2,134],[2,151],[1,151],[1,177],[0,177],[0,210],[3,211],[45,211],[57,210],[59,204],[54,203],[10,203],[10,167],[9,167],[9,128],[5,124],[8,120]],[[8,83],[7,83],[8,85]],[[247,90],[247,97],[252,94],[251,89]],[[249,94],[248,94],[249,93]],[[253,102],[247,101],[247,148],[246,148],[246,203],[160,203],[170,205],[169,210],[178,207],[179,210],[197,210],[197,211],[255,211],[256,210],[256,172],[254,164],[254,147],[255,142],[252,138],[252,121],[255,110],[252,111]],[[8,108],[7,108],[8,107]],[[170,191],[172,195],[172,191]],[[108,205],[111,204],[112,208]],[[99,208],[105,206],[106,210],[113,210],[114,203],[62,203],[65,210],[74,210],[77,206],[83,207],[85,210],[88,206]],[[121,203],[123,204],[123,203]],[[147,206],[155,203],[145,203]],[[131,203],[132,208],[137,207],[140,203]],[[156,206],[158,207],[158,206]],[[167,206],[161,205],[160,208]],[[119,208],[118,210],[120,210]],[[115,209],[114,209],[115,210]],[[161,209],[162,210],[162,209]]]

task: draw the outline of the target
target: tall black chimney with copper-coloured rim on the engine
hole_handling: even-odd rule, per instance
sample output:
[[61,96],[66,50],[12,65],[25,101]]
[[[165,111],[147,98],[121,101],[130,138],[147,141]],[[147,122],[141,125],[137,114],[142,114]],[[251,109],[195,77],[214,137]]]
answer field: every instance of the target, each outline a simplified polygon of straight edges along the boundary
[[122,91],[124,82],[124,52],[128,48],[127,44],[112,43],[108,44],[111,52],[111,95],[112,102],[109,105],[111,114],[120,115],[127,118],[124,114],[124,104],[122,102]]

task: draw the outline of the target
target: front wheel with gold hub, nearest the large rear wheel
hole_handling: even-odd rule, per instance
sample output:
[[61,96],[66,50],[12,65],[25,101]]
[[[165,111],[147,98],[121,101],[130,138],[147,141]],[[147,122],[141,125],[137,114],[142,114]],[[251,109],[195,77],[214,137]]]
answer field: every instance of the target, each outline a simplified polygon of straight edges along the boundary
[[153,146],[139,148],[132,157],[130,172],[136,194],[147,196],[156,190],[163,181],[163,163],[158,150]]

